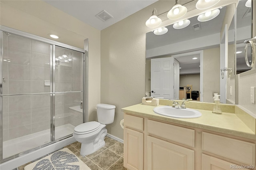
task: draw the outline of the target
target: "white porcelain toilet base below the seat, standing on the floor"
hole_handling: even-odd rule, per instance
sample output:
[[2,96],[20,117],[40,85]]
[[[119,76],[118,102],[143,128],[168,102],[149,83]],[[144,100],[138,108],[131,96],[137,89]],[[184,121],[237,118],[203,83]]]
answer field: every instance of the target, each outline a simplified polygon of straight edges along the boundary
[[92,154],[105,146],[104,138],[107,135],[107,129],[104,127],[97,135],[96,139],[90,143],[82,143],[80,155],[86,156]]

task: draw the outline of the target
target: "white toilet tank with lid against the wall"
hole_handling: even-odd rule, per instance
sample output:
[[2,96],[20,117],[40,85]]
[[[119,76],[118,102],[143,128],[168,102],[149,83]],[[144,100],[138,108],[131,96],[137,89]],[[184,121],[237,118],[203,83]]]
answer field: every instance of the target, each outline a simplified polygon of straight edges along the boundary
[[114,122],[115,117],[115,108],[114,105],[108,104],[98,104],[97,105],[97,118],[98,122],[108,125]]

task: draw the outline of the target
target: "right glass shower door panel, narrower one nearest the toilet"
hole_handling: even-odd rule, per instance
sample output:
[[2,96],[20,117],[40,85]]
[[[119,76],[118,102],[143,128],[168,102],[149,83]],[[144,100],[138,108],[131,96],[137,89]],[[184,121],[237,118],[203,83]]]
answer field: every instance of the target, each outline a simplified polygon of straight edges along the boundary
[[55,46],[55,139],[83,123],[83,54]]

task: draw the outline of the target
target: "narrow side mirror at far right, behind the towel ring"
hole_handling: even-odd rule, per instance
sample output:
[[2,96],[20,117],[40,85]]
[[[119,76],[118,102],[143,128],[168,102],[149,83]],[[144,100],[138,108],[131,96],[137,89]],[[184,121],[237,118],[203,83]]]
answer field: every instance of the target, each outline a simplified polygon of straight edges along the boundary
[[[252,8],[246,7],[247,0],[240,0],[236,8],[236,74],[248,71],[244,55],[244,41],[252,38]],[[252,48],[248,46],[248,61],[252,63]]]

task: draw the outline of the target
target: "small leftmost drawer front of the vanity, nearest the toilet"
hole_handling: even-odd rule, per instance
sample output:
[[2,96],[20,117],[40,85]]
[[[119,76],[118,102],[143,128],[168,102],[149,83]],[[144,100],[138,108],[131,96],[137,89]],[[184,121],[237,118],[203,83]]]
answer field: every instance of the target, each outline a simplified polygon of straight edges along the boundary
[[124,125],[143,131],[143,118],[124,114]]

